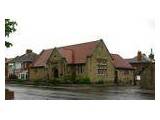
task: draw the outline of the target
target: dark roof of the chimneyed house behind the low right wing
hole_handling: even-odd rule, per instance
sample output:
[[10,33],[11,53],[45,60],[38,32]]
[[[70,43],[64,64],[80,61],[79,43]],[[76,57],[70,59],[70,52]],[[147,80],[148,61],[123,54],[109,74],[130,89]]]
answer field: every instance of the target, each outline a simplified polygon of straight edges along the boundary
[[140,61],[137,60],[137,56],[134,58],[126,59],[129,63],[148,63],[150,62],[150,58],[147,57],[145,54],[142,54],[142,59]]

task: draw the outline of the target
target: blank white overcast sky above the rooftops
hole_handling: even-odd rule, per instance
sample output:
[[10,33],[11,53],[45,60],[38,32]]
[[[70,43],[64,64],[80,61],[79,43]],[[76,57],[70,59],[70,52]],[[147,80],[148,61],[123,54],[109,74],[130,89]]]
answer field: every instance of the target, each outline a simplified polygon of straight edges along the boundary
[[[7,1],[7,0],[6,0]],[[154,0],[14,0],[6,15],[18,23],[6,39],[6,57],[103,39],[111,53],[149,54],[155,44],[158,5]]]

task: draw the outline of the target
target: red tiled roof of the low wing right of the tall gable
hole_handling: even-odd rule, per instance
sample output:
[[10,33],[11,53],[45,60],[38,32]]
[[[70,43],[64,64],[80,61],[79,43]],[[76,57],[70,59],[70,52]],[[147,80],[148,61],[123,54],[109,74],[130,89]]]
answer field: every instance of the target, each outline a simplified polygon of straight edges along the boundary
[[122,69],[133,69],[133,67],[129,64],[129,62],[123,59],[118,54],[111,54],[112,56],[112,63],[115,68],[122,68]]

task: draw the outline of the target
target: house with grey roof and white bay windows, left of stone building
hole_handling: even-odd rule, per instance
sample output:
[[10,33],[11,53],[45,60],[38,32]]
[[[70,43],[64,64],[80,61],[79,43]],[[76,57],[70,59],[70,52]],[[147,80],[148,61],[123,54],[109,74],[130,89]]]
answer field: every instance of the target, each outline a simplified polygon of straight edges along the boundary
[[[13,58],[7,63],[7,78],[9,79],[23,79],[29,78],[29,70],[32,66],[32,62],[37,57],[37,54],[32,52],[32,50],[27,49],[26,53]],[[7,79],[6,78],[6,79]]]

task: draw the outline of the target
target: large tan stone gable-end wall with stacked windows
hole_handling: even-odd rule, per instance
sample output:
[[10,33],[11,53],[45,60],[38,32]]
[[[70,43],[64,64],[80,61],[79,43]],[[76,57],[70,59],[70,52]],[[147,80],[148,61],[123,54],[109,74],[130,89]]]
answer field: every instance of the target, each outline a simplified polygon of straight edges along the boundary
[[[113,83],[115,69],[111,60],[112,58],[105,44],[103,42],[99,42],[97,48],[93,52],[93,55],[87,59],[86,73],[92,82],[104,81]],[[106,70],[102,70],[103,74],[98,73],[98,65],[104,65],[104,69],[106,68]]]

